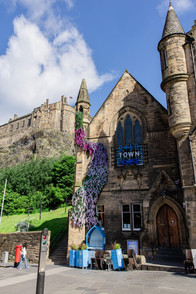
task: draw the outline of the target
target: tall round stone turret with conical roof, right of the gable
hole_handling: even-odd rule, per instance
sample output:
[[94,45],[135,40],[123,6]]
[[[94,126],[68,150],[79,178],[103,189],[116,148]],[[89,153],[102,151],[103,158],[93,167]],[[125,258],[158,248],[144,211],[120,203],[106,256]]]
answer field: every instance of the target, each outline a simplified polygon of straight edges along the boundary
[[178,140],[185,136],[191,126],[187,91],[189,74],[182,47],[187,40],[188,36],[170,4],[158,51],[163,80],[161,89],[166,93],[170,132]]

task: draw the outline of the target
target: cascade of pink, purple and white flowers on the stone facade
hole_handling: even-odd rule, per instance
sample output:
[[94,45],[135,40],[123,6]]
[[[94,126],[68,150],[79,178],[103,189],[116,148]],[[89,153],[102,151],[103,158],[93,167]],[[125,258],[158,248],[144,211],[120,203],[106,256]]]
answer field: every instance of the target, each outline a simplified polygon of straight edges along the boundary
[[83,113],[76,112],[75,143],[93,156],[83,185],[73,195],[71,218],[74,225],[85,225],[89,229],[98,223],[96,202],[108,178],[108,153],[102,143],[93,143],[84,137]]

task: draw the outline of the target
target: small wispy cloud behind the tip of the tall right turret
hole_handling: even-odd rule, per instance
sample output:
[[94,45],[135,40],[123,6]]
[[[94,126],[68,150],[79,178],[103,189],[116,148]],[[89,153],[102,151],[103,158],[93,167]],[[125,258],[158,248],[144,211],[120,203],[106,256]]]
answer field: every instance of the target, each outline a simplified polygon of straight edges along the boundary
[[[158,10],[161,16],[165,15],[165,11],[169,7],[168,0],[161,0],[161,3],[157,5],[156,9]],[[190,11],[195,8],[195,2],[192,0],[172,0],[172,7],[177,14],[182,14],[185,11]]]

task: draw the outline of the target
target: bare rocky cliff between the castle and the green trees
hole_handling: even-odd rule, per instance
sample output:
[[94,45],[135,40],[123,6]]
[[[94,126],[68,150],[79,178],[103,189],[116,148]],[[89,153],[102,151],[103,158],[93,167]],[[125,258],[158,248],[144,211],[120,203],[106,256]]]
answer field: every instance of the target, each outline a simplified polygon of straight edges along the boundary
[[28,161],[33,154],[40,158],[59,157],[62,152],[75,155],[74,134],[47,128],[37,129],[12,144],[0,146],[0,167]]

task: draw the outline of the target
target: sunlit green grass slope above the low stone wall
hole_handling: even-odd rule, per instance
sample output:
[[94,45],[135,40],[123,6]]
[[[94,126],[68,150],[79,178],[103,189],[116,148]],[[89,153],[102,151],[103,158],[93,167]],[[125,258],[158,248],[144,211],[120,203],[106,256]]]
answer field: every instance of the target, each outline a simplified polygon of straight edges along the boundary
[[[51,238],[52,240],[58,231],[63,227],[63,225],[67,222],[68,219],[68,209],[71,206],[67,206],[66,214],[65,208],[59,208],[51,212],[42,212],[41,213],[41,220],[39,220],[39,213],[30,214],[30,217],[34,217],[37,220],[36,225],[30,229],[30,231],[41,231],[45,228],[48,228],[51,231]],[[20,214],[14,216],[2,216],[1,218],[1,226],[0,226],[0,233],[11,233],[15,232],[14,224],[18,223],[20,220],[27,218],[27,214]]]

